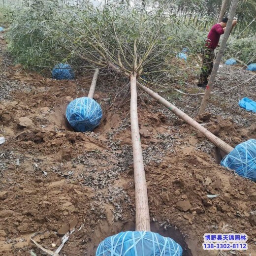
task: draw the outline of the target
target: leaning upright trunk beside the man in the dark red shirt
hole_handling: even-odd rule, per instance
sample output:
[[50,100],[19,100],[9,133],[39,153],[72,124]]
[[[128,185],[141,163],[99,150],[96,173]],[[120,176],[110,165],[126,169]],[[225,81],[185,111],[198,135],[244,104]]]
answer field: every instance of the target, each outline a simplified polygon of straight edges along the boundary
[[217,54],[216,61],[213,65],[213,70],[212,70],[208,85],[205,89],[205,94],[203,96],[198,114],[202,114],[203,112],[205,112],[207,103],[209,101],[211,91],[212,91],[212,87],[213,87],[213,83],[215,81],[217,71],[218,71],[219,65],[221,63],[222,56],[224,54],[224,50],[225,50],[225,47],[226,47],[226,42],[227,42],[229,33],[232,29],[232,21],[233,21],[234,16],[235,16],[235,11],[236,11],[237,4],[238,4],[238,0],[233,0],[233,4],[231,6],[231,10],[230,10],[227,25],[226,25],[226,30],[224,32],[224,37],[222,39],[221,46],[220,46],[219,52]]

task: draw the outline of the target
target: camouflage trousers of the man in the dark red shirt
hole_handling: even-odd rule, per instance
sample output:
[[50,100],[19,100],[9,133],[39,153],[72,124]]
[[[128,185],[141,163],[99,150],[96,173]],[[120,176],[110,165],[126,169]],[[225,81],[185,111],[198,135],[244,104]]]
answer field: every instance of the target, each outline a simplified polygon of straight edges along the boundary
[[207,84],[208,76],[213,69],[214,49],[204,48],[203,50],[203,64],[201,67],[201,74],[198,80],[198,84]]

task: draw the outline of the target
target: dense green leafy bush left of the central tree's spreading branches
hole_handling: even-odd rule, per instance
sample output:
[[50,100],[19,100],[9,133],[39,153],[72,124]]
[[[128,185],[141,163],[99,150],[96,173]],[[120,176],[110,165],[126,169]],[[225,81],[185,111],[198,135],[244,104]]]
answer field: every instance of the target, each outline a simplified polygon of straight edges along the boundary
[[30,8],[16,10],[6,39],[8,50],[17,63],[38,70],[64,62],[69,52],[60,48],[57,38],[58,17],[65,19],[58,3],[52,0],[34,2]]

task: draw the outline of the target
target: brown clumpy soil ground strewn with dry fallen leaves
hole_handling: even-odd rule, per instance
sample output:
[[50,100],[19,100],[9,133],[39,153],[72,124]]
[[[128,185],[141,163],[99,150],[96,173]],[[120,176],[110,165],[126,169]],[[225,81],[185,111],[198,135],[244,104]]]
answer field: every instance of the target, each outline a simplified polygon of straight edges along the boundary
[[[75,227],[60,255],[93,256],[105,237],[134,230],[128,84],[99,75],[103,120],[94,132],[77,133],[65,108],[88,93],[92,76],[55,81],[12,64],[4,40],[0,48],[0,255],[46,255],[30,241],[33,233],[55,250]],[[215,88],[224,92],[253,75],[223,65]],[[203,92],[193,77],[179,89]],[[238,106],[255,92],[254,78],[214,94],[203,125],[233,147],[256,138],[256,115]],[[162,96],[196,116],[201,95]],[[142,93],[138,111],[152,230],[179,242],[184,256],[256,256],[255,183],[217,164],[209,141]],[[247,252],[202,250],[204,233],[231,232],[248,235]]]

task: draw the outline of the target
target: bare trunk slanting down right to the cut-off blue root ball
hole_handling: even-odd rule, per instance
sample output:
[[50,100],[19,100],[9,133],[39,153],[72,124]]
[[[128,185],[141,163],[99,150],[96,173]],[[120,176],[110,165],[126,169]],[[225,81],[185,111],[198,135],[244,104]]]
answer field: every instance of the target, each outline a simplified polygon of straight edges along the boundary
[[180,109],[172,105],[170,102],[168,102],[166,99],[163,97],[159,96],[157,93],[153,92],[146,86],[140,84],[137,82],[137,85],[139,88],[141,88],[144,92],[148,93],[150,96],[155,98],[159,103],[167,107],[169,110],[171,110],[175,115],[177,115],[179,118],[184,120],[187,124],[192,126],[193,128],[197,129],[200,131],[208,140],[210,140],[216,147],[222,149],[224,153],[228,154],[230,153],[233,148],[229,146],[227,143],[225,143],[223,140],[220,138],[216,137],[214,134],[212,134],[209,130],[206,128],[202,127],[200,124],[198,124],[195,120],[193,120],[190,116],[182,112]]

